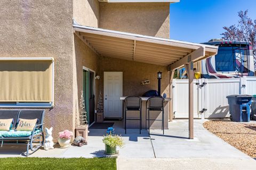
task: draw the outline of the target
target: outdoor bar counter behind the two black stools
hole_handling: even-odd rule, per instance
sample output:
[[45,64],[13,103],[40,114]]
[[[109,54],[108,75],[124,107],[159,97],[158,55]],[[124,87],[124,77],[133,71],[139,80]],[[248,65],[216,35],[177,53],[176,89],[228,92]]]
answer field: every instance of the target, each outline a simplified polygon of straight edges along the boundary
[[[127,96],[120,97],[120,100],[124,101]],[[140,97],[142,99],[142,129],[146,128],[146,102],[150,97]],[[171,98],[165,98],[164,103],[164,129],[168,129],[168,115],[170,113],[170,101]],[[124,104],[123,104],[123,111],[124,111]],[[128,111],[127,118],[138,118],[139,113],[138,111]],[[150,119],[162,119],[162,112],[161,111],[150,111]],[[139,128],[140,124],[139,121],[127,121],[126,127],[127,128]],[[162,121],[150,121],[150,128],[152,129],[161,129],[162,128]]]

